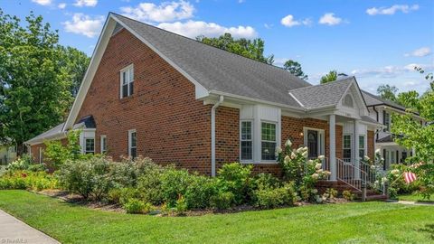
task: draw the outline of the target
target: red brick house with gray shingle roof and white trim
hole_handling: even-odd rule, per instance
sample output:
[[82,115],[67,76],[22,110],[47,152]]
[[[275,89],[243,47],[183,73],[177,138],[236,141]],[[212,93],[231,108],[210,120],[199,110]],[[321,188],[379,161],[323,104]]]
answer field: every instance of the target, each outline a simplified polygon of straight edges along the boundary
[[354,77],[312,86],[287,70],[109,14],[68,119],[26,142],[33,158],[43,160],[43,141],[64,140],[74,128],[82,129],[82,153],[144,155],[209,175],[231,162],[279,174],[275,148],[290,139],[309,157],[325,155],[336,183],[359,178],[359,158],[373,157],[382,124],[370,117]]

